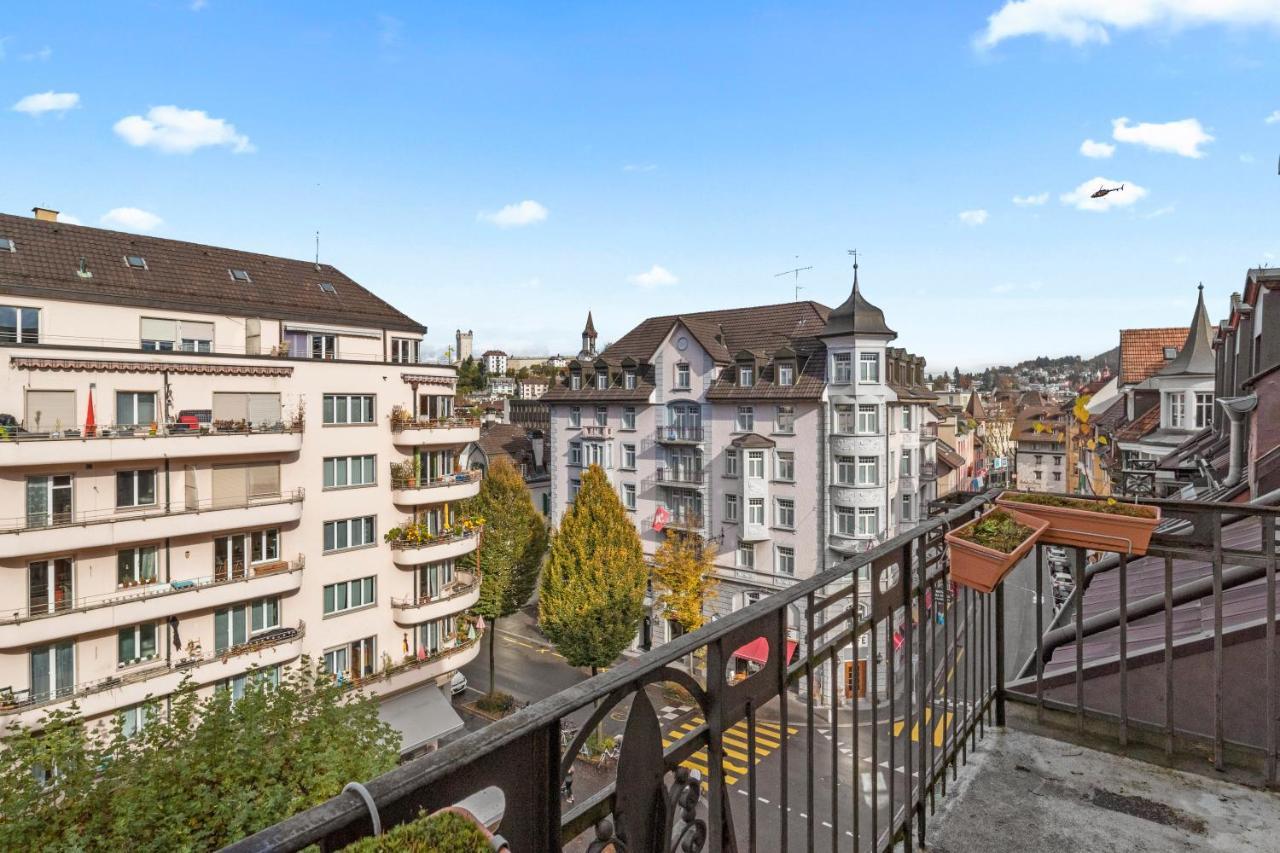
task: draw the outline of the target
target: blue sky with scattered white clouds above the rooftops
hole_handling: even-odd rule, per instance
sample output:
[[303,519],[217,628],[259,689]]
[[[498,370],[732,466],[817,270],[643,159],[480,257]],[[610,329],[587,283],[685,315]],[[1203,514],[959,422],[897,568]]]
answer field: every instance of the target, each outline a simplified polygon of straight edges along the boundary
[[[1280,254],[1280,0],[10,4],[0,210],[320,256],[476,351],[864,295],[1094,355]],[[1124,190],[1101,200],[1101,184]]]

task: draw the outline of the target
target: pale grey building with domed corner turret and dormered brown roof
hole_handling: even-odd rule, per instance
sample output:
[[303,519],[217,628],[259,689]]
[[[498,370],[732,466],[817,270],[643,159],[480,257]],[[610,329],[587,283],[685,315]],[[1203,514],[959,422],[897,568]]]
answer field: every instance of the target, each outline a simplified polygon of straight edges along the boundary
[[[655,316],[604,352],[593,319],[550,411],[552,519],[602,466],[646,553],[716,548],[727,613],[914,525],[933,497],[924,360],[863,297]],[[868,590],[869,594],[869,590]],[[792,625],[801,615],[791,613]],[[675,626],[645,620],[637,646]],[[851,681],[852,683],[852,681]]]

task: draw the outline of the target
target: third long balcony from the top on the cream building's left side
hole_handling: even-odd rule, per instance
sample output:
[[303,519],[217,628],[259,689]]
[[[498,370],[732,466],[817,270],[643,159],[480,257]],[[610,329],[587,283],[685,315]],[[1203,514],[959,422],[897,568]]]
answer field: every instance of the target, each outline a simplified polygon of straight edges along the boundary
[[[264,596],[288,596],[302,587],[300,557],[250,567],[239,575],[211,575],[169,583],[122,587],[111,593],[84,596],[55,610],[29,608],[0,613],[0,649],[40,646],[78,634],[108,631],[122,625],[160,621],[197,611],[227,607]],[[76,615],[74,619],[59,619]]]

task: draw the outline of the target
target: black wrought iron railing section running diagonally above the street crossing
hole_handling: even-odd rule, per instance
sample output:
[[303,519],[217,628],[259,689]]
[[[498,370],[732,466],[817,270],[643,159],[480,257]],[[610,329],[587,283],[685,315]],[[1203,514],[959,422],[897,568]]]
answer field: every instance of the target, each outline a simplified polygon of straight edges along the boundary
[[[943,543],[945,532],[992,494],[366,781],[381,826],[492,785],[503,792],[500,831],[513,849],[585,847],[593,833],[630,852],[923,843],[934,793],[945,793],[992,717],[1004,716],[1004,588],[991,596],[954,590]],[[796,608],[799,648],[788,625]],[[756,661],[763,648],[764,662],[740,679],[736,661],[748,648],[745,657]],[[700,674],[686,661],[703,662]],[[847,726],[851,735],[833,727],[826,738],[818,702],[845,684],[846,663],[867,671],[868,695],[855,706],[869,725]],[[696,706],[682,730],[662,730],[646,688],[664,683]],[[570,715],[580,722],[577,735],[562,740]],[[616,781],[563,812],[562,781],[580,748],[598,722],[621,715]],[[726,768],[731,727],[744,754],[732,761],[742,772]],[[924,734],[897,738],[915,729]],[[840,743],[845,736],[849,743]],[[769,738],[781,742],[776,761],[758,765]],[[705,780],[682,766],[698,753]],[[803,765],[797,776],[788,772],[792,762]],[[765,774],[777,780],[769,820],[758,806]],[[731,786],[741,793],[731,797]],[[371,826],[366,800],[344,793],[232,849],[338,849]]]

